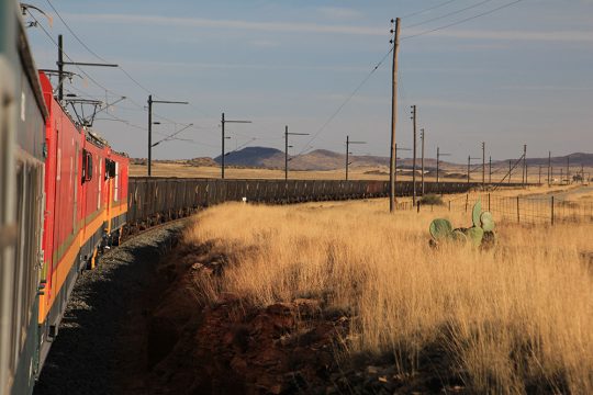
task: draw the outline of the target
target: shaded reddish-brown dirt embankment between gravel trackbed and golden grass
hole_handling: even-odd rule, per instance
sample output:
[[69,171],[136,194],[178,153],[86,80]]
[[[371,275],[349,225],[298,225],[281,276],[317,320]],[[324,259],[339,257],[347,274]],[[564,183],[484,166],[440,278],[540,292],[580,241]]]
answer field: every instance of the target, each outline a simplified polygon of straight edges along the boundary
[[416,375],[398,374],[392,356],[340,358],[351,317],[327,308],[323,298],[258,307],[220,293],[205,303],[198,284],[204,276],[220,278],[227,264],[210,246],[182,245],[168,262],[158,275],[166,291],[138,309],[128,331],[137,352],[128,353],[121,372],[125,394],[463,391],[434,350]]

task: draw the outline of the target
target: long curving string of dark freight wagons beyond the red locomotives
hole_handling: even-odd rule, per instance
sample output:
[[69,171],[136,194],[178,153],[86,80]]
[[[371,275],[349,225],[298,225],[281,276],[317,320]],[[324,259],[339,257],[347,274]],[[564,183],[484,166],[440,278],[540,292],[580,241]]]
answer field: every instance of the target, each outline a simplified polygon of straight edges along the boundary
[[[511,187],[519,185],[512,184]],[[425,182],[425,193],[461,193],[481,183]],[[416,188],[419,190],[419,182]],[[410,196],[411,181],[399,181],[399,196]],[[183,217],[199,208],[224,202],[286,204],[316,201],[369,199],[389,195],[388,181],[339,180],[214,180],[158,177],[132,177],[128,181],[128,207],[125,233]]]

